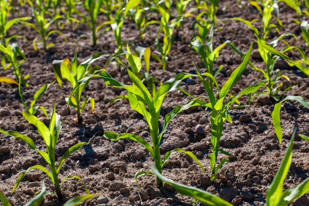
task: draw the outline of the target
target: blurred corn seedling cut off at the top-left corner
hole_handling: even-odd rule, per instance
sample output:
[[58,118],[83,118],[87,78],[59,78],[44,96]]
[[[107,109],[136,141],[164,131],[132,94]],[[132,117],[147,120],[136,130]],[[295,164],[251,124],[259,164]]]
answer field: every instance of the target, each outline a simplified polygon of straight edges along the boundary
[[31,19],[31,17],[20,17],[14,18],[11,20],[7,20],[9,16],[9,11],[11,10],[11,6],[8,4],[6,0],[0,1],[0,40],[2,41],[2,45],[6,47],[8,43],[14,38],[21,38],[19,35],[12,35],[7,37],[7,31],[18,22],[27,21]]

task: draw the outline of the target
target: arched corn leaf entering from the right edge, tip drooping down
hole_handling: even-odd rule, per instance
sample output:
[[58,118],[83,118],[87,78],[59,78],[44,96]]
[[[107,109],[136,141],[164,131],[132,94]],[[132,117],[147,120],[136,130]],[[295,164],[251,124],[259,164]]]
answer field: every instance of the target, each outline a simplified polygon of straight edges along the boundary
[[289,96],[285,97],[283,100],[281,100],[280,102],[278,102],[274,105],[273,111],[271,113],[272,124],[273,124],[274,130],[276,132],[276,135],[277,135],[280,143],[281,143],[281,140],[282,140],[282,127],[281,127],[281,123],[280,123],[280,111],[281,111],[282,102],[284,102],[286,100],[296,100],[299,103],[301,103],[304,107],[309,109],[309,102],[307,102],[303,97],[293,96],[293,95],[289,95]]

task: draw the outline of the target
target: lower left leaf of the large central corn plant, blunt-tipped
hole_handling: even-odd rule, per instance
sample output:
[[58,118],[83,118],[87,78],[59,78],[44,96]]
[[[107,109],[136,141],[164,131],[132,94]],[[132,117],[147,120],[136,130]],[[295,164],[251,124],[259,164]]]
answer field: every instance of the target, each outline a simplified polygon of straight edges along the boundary
[[154,157],[154,150],[153,150],[152,146],[140,136],[133,135],[133,134],[130,134],[130,133],[117,134],[116,132],[105,131],[104,137],[108,138],[110,140],[113,140],[113,141],[118,141],[119,139],[126,139],[127,138],[127,139],[131,139],[133,141],[139,142],[141,145],[146,147],[146,149],[148,149],[150,154]]

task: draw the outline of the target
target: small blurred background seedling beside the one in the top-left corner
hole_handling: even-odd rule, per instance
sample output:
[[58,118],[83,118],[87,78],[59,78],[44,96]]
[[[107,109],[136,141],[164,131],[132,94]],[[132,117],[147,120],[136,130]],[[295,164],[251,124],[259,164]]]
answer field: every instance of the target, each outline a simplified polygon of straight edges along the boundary
[[[33,7],[33,4],[32,4],[32,7]],[[54,44],[53,43],[48,43],[47,44],[47,40],[49,39],[50,35],[52,34],[59,34],[63,37],[63,39],[65,41],[67,41],[67,38],[62,34],[61,31],[58,31],[58,30],[51,30],[48,32],[48,28],[50,27],[50,25],[56,21],[57,19],[60,19],[62,18],[60,15],[55,15],[53,16],[52,18],[45,18],[45,12],[44,12],[44,9],[40,9],[40,10],[36,10],[34,7],[32,8],[33,10],[33,15],[35,17],[35,20],[38,24],[38,26],[36,26],[35,24],[33,23],[30,23],[30,22],[22,22],[22,24],[24,25],[27,25],[27,26],[30,26],[31,28],[33,28],[40,36],[40,38],[35,38],[33,40],[33,47],[35,50],[38,50],[37,49],[37,41],[40,41],[41,43],[43,43],[43,49],[46,50],[48,49],[49,47],[53,47]]]

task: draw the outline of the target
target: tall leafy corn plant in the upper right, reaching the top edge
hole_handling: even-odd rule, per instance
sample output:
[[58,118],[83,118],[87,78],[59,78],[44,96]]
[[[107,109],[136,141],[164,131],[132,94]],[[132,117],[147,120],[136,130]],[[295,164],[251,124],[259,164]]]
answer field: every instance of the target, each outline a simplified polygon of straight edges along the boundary
[[276,101],[278,101],[280,99],[280,95],[279,95],[279,90],[280,90],[280,86],[282,84],[278,84],[278,81],[280,80],[280,78],[285,78],[287,80],[289,80],[288,77],[281,75],[279,70],[275,70],[274,69],[274,65],[276,60],[278,59],[277,56],[272,57],[271,53],[268,52],[267,50],[265,50],[262,46],[262,44],[264,45],[268,45],[272,48],[276,47],[278,45],[279,41],[284,42],[287,47],[282,49],[282,52],[286,52],[288,50],[292,50],[292,49],[297,49],[300,51],[300,53],[302,54],[303,58],[307,58],[306,54],[304,51],[302,51],[299,47],[296,46],[290,46],[286,41],[283,40],[284,37],[286,36],[293,36],[295,39],[296,36],[291,34],[291,33],[284,33],[282,35],[280,35],[276,40],[271,41],[270,43],[268,43],[268,37],[270,34],[270,31],[272,30],[277,30],[277,32],[279,33],[279,27],[282,26],[281,21],[276,17],[276,21],[278,22],[278,25],[275,25],[273,23],[271,23],[272,21],[272,12],[274,12],[276,14],[276,16],[278,16],[278,5],[276,3],[273,3],[272,0],[266,0],[264,2],[264,9],[262,10],[261,7],[256,3],[254,4],[259,11],[262,14],[262,22],[263,22],[263,34],[259,34],[259,30],[258,28],[254,27],[252,23],[254,23],[255,21],[258,21],[258,19],[254,19],[251,22],[241,19],[241,18],[231,18],[232,20],[237,20],[237,21],[241,21],[243,23],[245,23],[254,33],[255,37],[257,38],[257,42],[258,42],[258,49],[259,49],[259,53],[263,59],[263,61],[265,62],[266,65],[266,71],[264,71],[261,68],[255,67],[251,64],[251,66],[253,66],[254,69],[260,71],[264,78],[267,80],[267,85],[265,85],[267,91],[263,92],[263,93],[267,93],[270,96],[270,99],[274,99]]

